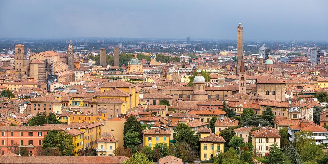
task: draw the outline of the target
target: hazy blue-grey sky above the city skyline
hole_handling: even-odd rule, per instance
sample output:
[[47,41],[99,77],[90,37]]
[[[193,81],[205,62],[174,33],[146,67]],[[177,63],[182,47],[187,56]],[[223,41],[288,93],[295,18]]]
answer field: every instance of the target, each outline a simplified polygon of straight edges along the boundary
[[0,38],[328,41],[327,0],[0,0]]

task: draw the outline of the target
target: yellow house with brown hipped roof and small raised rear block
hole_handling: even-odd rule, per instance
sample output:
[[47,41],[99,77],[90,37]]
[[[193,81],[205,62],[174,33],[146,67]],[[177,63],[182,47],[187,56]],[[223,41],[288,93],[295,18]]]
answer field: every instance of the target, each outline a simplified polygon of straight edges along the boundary
[[201,161],[211,159],[217,154],[224,152],[224,138],[212,133],[210,129],[198,129],[199,139],[199,157]]

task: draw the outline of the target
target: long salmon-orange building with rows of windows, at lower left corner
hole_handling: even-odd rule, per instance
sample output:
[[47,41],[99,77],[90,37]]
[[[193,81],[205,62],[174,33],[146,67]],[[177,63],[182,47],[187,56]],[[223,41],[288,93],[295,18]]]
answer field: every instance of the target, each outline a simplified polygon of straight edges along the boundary
[[0,153],[10,153],[10,145],[16,142],[18,148],[27,148],[30,155],[37,155],[42,139],[52,129],[64,131],[53,126],[0,126]]

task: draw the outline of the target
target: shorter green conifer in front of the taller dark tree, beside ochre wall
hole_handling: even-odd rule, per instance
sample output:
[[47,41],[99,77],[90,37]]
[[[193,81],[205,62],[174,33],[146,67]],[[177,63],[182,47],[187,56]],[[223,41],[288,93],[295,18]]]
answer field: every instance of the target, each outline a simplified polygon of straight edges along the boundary
[[124,135],[125,147],[131,148],[132,152],[136,152],[136,148],[141,142],[139,135],[138,132],[134,132],[134,126],[132,126]]

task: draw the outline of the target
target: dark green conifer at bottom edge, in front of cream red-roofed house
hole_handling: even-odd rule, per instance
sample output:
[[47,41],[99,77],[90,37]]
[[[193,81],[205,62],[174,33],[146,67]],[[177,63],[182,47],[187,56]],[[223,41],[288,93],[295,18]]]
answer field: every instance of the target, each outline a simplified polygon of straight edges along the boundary
[[265,159],[261,162],[263,164],[287,164],[285,159],[285,154],[277,147],[274,143],[269,148],[269,155],[264,157]]

